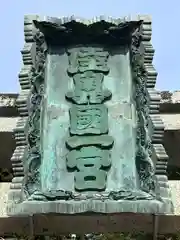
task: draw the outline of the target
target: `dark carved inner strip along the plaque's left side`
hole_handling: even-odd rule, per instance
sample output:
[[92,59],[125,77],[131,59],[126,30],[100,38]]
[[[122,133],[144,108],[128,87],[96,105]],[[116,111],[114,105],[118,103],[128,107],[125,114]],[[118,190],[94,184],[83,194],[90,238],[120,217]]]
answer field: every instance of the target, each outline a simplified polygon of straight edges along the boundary
[[32,195],[40,188],[41,165],[41,110],[44,97],[44,80],[45,80],[45,60],[46,60],[46,43],[43,33],[37,31],[34,36],[36,44],[35,67],[32,69],[31,77],[31,96],[29,99],[29,118],[27,132],[27,174],[24,182],[24,189],[27,195]]

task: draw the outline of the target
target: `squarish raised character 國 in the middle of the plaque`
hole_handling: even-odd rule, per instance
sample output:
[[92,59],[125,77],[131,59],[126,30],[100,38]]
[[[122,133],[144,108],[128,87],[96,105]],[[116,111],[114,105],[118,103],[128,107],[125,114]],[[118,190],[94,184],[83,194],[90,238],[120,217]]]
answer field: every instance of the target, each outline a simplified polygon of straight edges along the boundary
[[107,132],[108,111],[105,105],[74,105],[70,109],[72,135],[100,135]]

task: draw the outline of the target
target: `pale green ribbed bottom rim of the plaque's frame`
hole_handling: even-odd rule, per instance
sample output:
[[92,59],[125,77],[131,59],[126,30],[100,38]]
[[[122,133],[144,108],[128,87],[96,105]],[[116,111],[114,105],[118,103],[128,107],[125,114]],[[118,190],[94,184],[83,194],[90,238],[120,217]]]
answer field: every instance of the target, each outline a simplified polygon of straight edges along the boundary
[[173,213],[172,202],[165,199],[163,202],[157,200],[61,200],[61,201],[24,201],[22,203],[12,203],[7,205],[9,216],[33,215],[43,213],[57,214],[83,214],[87,212],[110,214],[115,212],[151,213],[151,214],[171,214]]

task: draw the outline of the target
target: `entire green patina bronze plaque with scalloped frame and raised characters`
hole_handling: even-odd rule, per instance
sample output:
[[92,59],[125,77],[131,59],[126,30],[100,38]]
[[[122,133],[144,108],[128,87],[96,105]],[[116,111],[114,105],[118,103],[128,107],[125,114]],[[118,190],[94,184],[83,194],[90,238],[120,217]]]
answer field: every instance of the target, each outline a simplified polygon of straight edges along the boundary
[[172,212],[150,130],[148,21],[27,18],[14,214]]

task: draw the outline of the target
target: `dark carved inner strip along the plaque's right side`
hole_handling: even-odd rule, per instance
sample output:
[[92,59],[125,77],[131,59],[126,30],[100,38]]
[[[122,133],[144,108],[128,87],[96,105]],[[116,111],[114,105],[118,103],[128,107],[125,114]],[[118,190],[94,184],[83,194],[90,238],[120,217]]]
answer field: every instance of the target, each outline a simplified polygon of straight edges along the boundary
[[151,159],[151,138],[148,132],[149,102],[146,88],[147,72],[142,51],[142,25],[136,29],[131,44],[132,78],[135,84],[137,110],[136,167],[140,177],[140,188],[145,192],[155,191],[155,167]]

